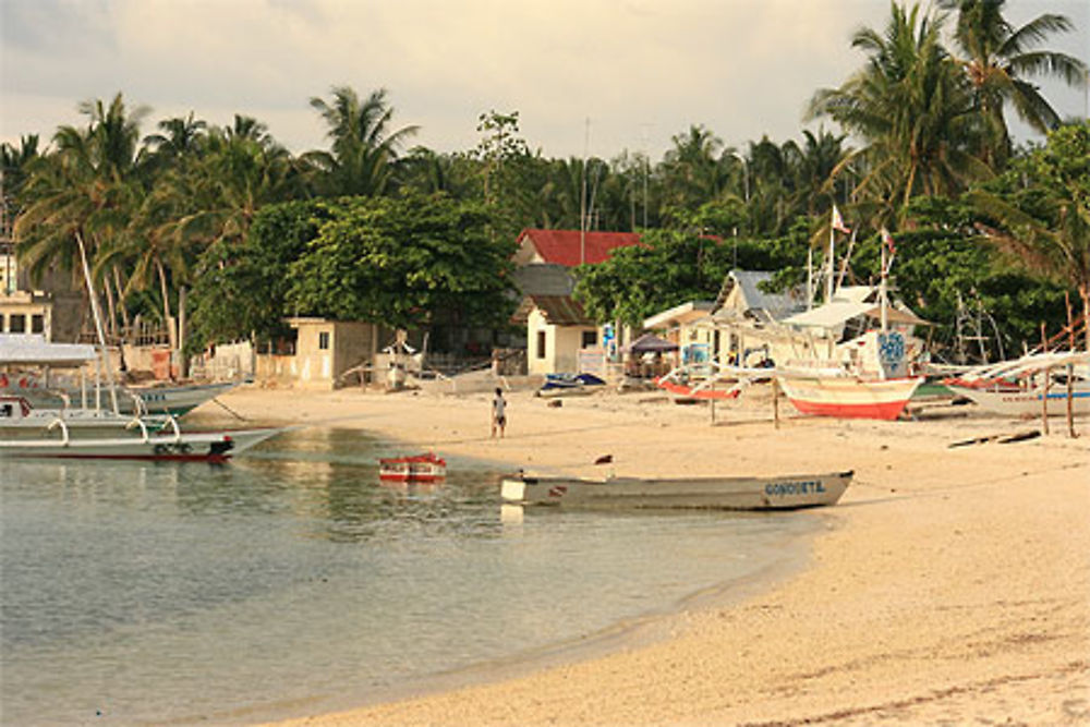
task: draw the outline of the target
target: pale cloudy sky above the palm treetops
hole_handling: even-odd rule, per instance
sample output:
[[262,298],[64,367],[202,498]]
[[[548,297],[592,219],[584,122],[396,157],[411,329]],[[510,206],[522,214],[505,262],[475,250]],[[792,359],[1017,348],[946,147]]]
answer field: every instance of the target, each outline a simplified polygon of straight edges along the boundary
[[[1063,13],[1053,50],[1090,61],[1090,1],[1009,0],[1020,25]],[[662,158],[703,124],[727,146],[798,140],[813,92],[861,68],[850,47],[888,0],[0,0],[0,141],[81,125],[80,101],[252,116],[293,153],[328,141],[315,96],[385,88],[410,146],[468,150],[481,113],[519,112],[547,157]],[[1042,83],[1062,117],[1087,97]],[[829,128],[835,129],[826,121]],[[1037,140],[1014,124],[1016,138]]]

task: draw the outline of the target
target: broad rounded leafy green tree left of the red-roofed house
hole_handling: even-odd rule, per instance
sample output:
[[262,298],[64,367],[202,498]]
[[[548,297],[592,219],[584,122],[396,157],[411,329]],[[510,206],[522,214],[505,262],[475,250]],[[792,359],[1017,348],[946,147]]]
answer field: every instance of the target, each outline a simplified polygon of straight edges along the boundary
[[494,242],[475,205],[444,195],[343,197],[291,263],[288,302],[301,314],[425,325],[439,310],[498,324],[512,312],[513,240]]

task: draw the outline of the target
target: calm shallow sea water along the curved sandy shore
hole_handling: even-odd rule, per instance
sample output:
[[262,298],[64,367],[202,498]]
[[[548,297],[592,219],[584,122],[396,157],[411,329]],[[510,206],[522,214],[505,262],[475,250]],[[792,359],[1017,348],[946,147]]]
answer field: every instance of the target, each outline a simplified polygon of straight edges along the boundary
[[[229,465],[0,460],[0,720],[245,720],[531,653],[804,547],[813,512],[501,517],[498,476],[380,485],[397,447]],[[508,513],[510,514],[510,513]]]

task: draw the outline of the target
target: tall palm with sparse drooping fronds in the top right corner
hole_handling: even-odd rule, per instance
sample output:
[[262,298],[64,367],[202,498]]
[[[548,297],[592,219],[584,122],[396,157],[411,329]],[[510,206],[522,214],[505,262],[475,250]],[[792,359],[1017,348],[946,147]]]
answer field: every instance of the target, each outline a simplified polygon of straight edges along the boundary
[[1069,86],[1085,83],[1087,66],[1077,58],[1033,50],[1055,33],[1074,28],[1064,15],[1045,13],[1019,28],[1003,17],[1006,0],[940,0],[957,12],[954,39],[964,56],[957,63],[972,84],[985,130],[986,159],[1003,165],[1010,155],[1010,136],[1003,114],[1010,104],[1022,121],[1041,133],[1055,129],[1059,116],[1029,76],[1053,76]]

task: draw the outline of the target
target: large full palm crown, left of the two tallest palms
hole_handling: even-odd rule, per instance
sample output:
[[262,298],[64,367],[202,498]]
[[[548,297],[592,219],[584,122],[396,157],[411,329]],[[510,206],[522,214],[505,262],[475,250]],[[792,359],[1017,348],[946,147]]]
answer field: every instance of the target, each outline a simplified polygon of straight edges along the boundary
[[893,225],[917,194],[949,195],[990,174],[971,154],[974,106],[968,82],[941,43],[942,19],[894,4],[884,34],[858,31],[852,46],[867,65],[839,88],[814,94],[809,118],[832,117],[865,146],[867,172],[857,193],[882,205],[880,223]]

